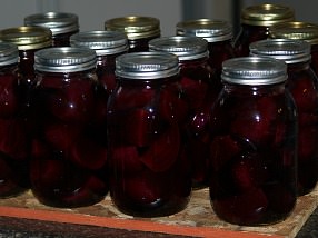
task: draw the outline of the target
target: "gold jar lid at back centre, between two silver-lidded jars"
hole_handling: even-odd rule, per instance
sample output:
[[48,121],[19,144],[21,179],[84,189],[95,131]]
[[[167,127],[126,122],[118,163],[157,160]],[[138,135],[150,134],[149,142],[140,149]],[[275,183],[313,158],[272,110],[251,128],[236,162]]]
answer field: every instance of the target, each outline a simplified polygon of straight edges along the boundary
[[159,37],[160,21],[151,17],[129,16],[107,20],[105,29],[123,31],[129,40]]

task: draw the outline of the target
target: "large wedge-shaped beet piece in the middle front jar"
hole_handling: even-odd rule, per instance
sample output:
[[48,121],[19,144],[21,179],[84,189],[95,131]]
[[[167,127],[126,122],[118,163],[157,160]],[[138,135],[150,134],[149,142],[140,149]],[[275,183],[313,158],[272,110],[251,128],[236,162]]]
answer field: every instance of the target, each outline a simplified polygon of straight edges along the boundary
[[179,150],[179,127],[172,123],[142,152],[140,160],[155,172],[167,171],[178,159]]

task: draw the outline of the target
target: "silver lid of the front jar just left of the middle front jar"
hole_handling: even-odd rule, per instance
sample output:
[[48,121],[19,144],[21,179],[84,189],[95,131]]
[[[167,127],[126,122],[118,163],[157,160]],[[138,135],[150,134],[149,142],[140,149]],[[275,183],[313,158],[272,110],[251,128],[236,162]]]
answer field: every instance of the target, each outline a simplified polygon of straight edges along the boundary
[[46,72],[77,72],[96,67],[95,50],[77,47],[47,48],[34,53],[34,69]]

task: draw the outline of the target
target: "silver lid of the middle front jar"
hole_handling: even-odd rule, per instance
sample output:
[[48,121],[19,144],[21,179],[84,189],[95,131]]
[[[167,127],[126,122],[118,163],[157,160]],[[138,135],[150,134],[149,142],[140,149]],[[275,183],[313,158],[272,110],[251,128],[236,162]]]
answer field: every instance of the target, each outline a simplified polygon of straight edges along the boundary
[[116,58],[116,76],[152,80],[179,73],[178,57],[167,52],[132,52]]

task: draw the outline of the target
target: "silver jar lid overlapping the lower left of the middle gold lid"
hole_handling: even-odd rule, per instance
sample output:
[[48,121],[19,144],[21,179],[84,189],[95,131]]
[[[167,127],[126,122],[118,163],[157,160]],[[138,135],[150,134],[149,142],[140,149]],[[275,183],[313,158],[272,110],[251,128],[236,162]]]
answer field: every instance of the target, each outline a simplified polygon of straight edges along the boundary
[[116,54],[128,51],[128,39],[120,31],[85,31],[70,37],[71,47],[85,47],[97,56]]

